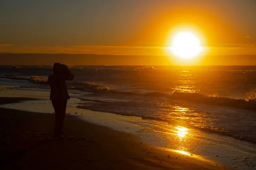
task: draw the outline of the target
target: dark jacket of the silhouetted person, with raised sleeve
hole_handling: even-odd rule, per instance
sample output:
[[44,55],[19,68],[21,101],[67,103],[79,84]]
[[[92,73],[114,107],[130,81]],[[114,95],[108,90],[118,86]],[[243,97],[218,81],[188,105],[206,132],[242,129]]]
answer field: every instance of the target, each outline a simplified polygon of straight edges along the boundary
[[67,71],[66,73],[52,74],[48,77],[51,86],[50,100],[67,100],[70,96],[67,92],[66,80],[73,80],[74,75]]

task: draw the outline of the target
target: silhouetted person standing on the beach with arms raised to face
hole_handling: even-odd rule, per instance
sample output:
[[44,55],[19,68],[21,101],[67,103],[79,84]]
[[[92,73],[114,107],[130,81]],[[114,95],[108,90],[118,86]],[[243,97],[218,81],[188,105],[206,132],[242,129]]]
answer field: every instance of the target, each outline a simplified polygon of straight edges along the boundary
[[55,136],[63,135],[63,123],[66,114],[67,100],[70,96],[67,92],[66,80],[73,80],[73,74],[67,65],[54,63],[53,74],[48,77],[51,86],[50,100],[55,111]]

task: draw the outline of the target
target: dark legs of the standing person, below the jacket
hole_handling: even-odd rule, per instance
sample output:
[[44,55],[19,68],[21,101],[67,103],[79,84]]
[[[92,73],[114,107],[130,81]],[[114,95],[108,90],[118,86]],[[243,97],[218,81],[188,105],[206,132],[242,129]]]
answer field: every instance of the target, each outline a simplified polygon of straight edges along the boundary
[[55,128],[54,135],[60,136],[61,134],[61,101],[60,100],[52,100],[52,106],[55,111]]

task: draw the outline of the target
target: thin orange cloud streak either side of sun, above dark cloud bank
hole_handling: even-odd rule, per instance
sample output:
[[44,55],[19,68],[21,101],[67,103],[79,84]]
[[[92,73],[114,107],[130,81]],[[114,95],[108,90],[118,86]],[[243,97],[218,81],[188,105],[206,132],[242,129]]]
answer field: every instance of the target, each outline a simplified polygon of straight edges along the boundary
[[[0,53],[38,53],[38,54],[102,54],[102,55],[171,55],[169,47],[142,46],[33,46],[0,45]],[[204,47],[202,55],[256,55],[255,44],[233,44]]]

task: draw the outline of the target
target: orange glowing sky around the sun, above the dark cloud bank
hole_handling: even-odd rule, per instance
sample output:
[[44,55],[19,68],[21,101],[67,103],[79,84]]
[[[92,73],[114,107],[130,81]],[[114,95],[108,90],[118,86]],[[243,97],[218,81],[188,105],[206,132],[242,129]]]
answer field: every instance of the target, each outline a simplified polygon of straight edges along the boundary
[[166,55],[191,31],[205,55],[256,55],[256,0],[1,0],[0,53]]

